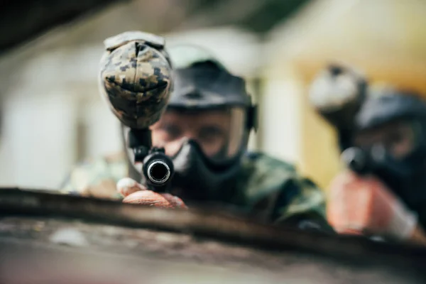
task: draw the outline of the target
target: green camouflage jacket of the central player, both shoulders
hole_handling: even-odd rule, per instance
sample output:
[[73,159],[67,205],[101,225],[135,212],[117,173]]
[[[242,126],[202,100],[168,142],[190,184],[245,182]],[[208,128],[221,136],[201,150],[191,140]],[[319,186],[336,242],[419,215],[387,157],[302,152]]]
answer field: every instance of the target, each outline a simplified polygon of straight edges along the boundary
[[[129,176],[124,153],[77,165],[61,187],[68,194],[121,199],[116,182]],[[222,202],[270,222],[314,221],[331,229],[325,218],[325,197],[295,168],[262,153],[248,153],[236,179],[236,190]]]

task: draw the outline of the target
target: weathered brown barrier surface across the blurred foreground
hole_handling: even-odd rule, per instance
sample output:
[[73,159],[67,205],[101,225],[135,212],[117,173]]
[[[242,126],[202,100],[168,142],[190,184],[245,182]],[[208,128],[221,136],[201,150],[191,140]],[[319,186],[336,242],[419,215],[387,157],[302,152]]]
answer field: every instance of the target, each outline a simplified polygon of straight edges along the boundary
[[[161,273],[185,279],[191,273],[217,277],[214,271],[219,269],[228,275],[223,283],[246,275],[264,283],[295,278],[305,280],[300,283],[426,280],[424,249],[290,230],[200,210],[0,190],[0,212],[0,275],[9,275],[0,280],[16,275],[12,271],[18,262],[31,271],[36,259],[46,269],[55,263],[56,274],[76,259],[97,263],[78,268],[84,273],[128,268],[136,278],[144,275],[146,283],[156,277],[146,275],[153,263]],[[117,263],[117,258],[122,261]]]

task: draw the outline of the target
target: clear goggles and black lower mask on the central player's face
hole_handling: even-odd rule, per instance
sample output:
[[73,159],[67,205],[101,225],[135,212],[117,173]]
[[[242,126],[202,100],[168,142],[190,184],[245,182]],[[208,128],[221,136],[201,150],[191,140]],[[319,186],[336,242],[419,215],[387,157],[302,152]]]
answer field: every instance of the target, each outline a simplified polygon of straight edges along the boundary
[[[135,151],[123,126],[124,143],[130,161]],[[241,155],[249,137],[247,112],[241,107],[187,111],[166,111],[151,129],[153,146],[165,148],[175,173],[172,192],[188,200],[214,200],[229,190],[239,171]],[[141,173],[141,163],[131,163]],[[141,179],[138,175],[136,178]]]

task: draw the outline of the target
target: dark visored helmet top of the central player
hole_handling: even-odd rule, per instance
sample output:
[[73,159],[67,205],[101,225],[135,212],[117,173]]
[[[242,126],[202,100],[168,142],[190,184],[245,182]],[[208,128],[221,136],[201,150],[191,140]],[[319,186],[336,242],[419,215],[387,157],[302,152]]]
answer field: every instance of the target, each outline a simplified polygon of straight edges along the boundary
[[247,129],[256,129],[256,107],[246,82],[234,76],[219,60],[197,45],[168,48],[174,68],[174,88],[168,108],[207,110],[240,107],[246,111]]

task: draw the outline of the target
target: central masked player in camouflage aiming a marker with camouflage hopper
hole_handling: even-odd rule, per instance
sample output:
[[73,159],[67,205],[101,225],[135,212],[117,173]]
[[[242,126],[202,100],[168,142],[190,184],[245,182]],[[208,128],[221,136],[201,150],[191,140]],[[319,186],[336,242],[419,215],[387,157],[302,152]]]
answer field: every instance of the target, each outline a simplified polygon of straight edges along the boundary
[[[124,33],[105,42],[109,52],[102,63],[102,92],[121,121],[123,117],[131,120],[132,116],[126,116],[126,105],[114,99],[129,98],[133,92],[136,97],[141,95],[139,98],[151,96],[163,98],[162,102],[168,100],[167,110],[159,121],[153,115],[151,121],[138,117],[131,123],[151,125],[155,121],[150,126],[153,145],[164,147],[175,165],[171,194],[189,206],[192,202],[216,202],[244,212],[256,212],[256,217],[270,222],[332,230],[324,217],[322,190],[302,178],[293,165],[263,153],[246,151],[249,133],[256,128],[256,111],[246,93],[244,80],[231,75],[205,50],[182,45],[165,53],[159,40],[155,39],[157,44],[150,44],[144,36]],[[148,45],[148,50],[160,51],[156,61],[150,63],[156,67],[146,64],[150,61],[145,53],[138,53],[138,45],[143,44]],[[162,58],[163,63],[171,61],[173,80],[167,68],[163,65],[163,69],[158,68],[158,58]],[[152,80],[154,73],[159,74],[158,70],[162,70],[160,76]],[[111,82],[114,87],[107,87]],[[168,89],[170,85],[173,92],[169,99],[165,93],[172,89]],[[153,94],[155,88],[157,94]],[[144,106],[142,102],[139,109]],[[129,129],[126,126],[122,129],[124,145],[127,145]],[[62,189],[80,195],[123,198],[116,190],[117,182],[126,177],[141,181],[141,165],[132,162],[131,149],[125,148],[124,153],[78,165]]]

